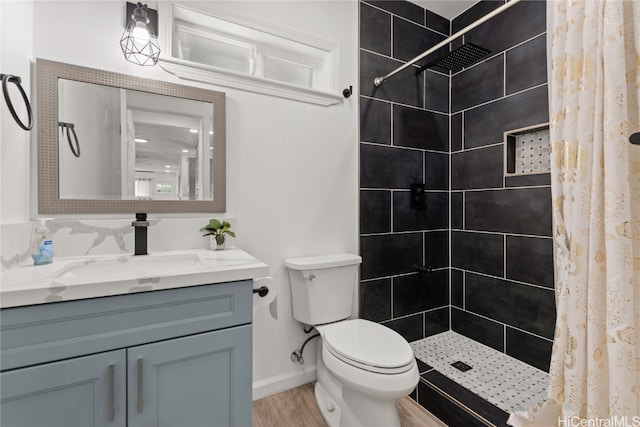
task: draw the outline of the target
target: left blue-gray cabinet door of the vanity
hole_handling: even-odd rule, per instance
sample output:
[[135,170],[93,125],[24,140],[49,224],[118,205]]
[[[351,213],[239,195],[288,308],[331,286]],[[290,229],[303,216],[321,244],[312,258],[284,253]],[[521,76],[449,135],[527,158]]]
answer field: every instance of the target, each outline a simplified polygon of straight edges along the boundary
[[124,350],[0,374],[3,427],[126,426]]

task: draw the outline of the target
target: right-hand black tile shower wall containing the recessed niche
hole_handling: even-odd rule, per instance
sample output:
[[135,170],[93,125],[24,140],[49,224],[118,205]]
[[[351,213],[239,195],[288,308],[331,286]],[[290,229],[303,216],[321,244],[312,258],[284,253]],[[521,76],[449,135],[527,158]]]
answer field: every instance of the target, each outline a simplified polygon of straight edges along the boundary
[[[504,1],[483,0],[452,31]],[[464,36],[488,59],[451,76],[451,327],[548,369],[555,323],[549,174],[504,176],[504,132],[549,121],[546,5]],[[453,191],[455,190],[455,191]]]

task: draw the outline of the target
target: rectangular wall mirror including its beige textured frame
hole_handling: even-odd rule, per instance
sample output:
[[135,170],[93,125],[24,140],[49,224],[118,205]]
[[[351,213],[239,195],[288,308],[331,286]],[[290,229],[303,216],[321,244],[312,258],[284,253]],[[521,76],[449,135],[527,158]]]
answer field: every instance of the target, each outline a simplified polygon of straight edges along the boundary
[[225,94],[36,61],[38,213],[225,210]]

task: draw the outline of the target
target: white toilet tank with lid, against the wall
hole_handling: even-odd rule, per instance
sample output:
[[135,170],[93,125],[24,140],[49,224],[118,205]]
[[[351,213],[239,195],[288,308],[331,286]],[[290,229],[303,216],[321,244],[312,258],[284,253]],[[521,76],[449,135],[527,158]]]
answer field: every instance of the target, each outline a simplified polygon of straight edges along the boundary
[[351,316],[361,262],[358,255],[346,253],[285,259],[293,317],[307,325],[320,325]]

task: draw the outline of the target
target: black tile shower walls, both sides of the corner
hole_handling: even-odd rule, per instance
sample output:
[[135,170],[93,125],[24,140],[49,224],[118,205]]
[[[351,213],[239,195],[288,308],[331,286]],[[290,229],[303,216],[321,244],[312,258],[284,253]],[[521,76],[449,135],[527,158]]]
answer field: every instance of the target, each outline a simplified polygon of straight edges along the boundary
[[[504,3],[482,0],[451,25],[409,2],[360,3],[360,314],[409,341],[450,327],[548,369],[550,176],[505,177],[502,143],[549,121],[545,2],[524,0],[452,43],[492,51],[476,65],[372,84]],[[425,210],[409,206],[412,183],[425,184]]]

